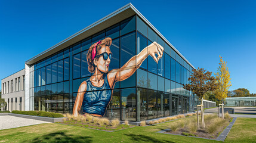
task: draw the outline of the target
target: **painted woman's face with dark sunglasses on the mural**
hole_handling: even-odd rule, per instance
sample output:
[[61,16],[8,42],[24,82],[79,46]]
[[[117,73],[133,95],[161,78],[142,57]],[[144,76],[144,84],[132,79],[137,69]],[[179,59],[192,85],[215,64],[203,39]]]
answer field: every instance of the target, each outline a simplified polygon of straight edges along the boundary
[[96,61],[96,66],[101,73],[106,73],[109,71],[110,58],[112,58],[112,52],[109,46],[102,47],[98,51],[98,60]]

